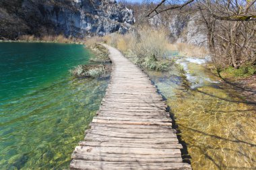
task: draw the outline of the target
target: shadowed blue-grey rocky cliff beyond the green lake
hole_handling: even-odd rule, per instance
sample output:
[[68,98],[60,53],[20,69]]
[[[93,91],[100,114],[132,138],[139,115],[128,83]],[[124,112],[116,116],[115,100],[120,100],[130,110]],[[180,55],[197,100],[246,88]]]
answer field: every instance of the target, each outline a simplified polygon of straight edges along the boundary
[[115,0],[0,0],[0,39],[123,34],[133,23],[133,11]]

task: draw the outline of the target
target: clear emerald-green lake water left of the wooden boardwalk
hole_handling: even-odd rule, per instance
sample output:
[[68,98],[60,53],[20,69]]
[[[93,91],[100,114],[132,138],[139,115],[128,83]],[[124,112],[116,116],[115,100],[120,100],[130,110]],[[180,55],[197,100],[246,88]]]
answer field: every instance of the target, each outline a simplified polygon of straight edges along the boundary
[[108,79],[73,79],[82,45],[0,43],[0,169],[67,169]]

